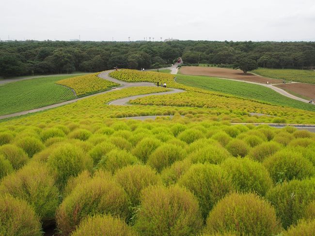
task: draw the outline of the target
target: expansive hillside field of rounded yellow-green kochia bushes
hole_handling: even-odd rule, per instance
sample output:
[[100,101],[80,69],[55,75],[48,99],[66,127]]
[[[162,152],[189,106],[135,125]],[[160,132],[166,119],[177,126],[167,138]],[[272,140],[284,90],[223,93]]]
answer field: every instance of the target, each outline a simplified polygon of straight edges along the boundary
[[[315,134],[231,124],[314,124],[314,112],[118,72],[187,92],[106,105],[165,91],[127,88],[1,122],[0,235],[314,235]],[[116,119],[156,114],[174,117]]]

